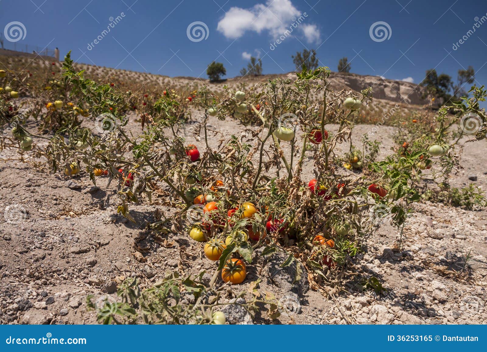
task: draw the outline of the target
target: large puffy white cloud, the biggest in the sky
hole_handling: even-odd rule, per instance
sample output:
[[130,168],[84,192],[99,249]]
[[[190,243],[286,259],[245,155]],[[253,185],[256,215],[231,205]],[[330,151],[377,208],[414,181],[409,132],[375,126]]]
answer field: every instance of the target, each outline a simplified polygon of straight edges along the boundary
[[291,0],[266,0],[265,4],[256,4],[251,8],[231,7],[223,19],[218,22],[217,29],[225,37],[236,39],[247,31],[258,34],[268,32],[277,39],[294,28],[299,28],[308,42],[319,40],[316,24],[302,23],[307,16],[294,7]]

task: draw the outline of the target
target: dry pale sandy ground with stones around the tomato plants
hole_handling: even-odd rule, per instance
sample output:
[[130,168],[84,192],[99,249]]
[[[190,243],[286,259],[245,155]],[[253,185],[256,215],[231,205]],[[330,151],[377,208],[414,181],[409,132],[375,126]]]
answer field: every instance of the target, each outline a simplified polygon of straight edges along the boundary
[[[133,120],[128,128],[137,131]],[[225,136],[244,130],[235,121],[215,119],[209,124]],[[354,134],[360,136],[371,128],[356,126]],[[374,137],[382,142],[381,155],[393,147],[392,131],[380,127]],[[190,129],[186,132],[190,138]],[[211,143],[216,145],[217,138]],[[466,145],[465,172],[454,176],[453,185],[475,183],[485,190],[486,148],[485,141]],[[140,238],[146,224],[154,221],[156,208],[164,216],[170,216],[173,208],[157,202],[132,206],[137,221],[132,224],[116,214],[116,204],[110,202],[115,194],[106,178],[99,178],[94,186],[84,172],[70,179],[59,172],[50,174],[38,164],[12,160],[17,157],[15,150],[0,151],[2,324],[95,323],[94,312],[86,310],[86,296],[115,297],[126,277],[137,277],[147,287],[169,271],[187,275],[206,270],[204,280],[209,280],[216,269],[204,257],[203,246],[186,233],[169,233],[158,241]],[[304,165],[305,176],[312,174],[311,166],[310,158]],[[379,279],[382,294],[360,292],[347,283],[344,290],[332,292],[331,299],[310,290],[306,275],[291,285],[291,269],[279,268],[286,257],[282,253],[249,266],[246,280],[236,291],[246,291],[250,281],[261,278],[262,292],[272,292],[289,308],[277,323],[484,324],[486,225],[487,210],[415,204],[398,249],[397,230],[384,224],[368,238],[368,251],[355,259],[363,272]],[[134,241],[147,249],[143,262],[132,256]],[[224,298],[231,300],[235,295],[227,290]],[[192,297],[184,299],[189,302]],[[225,314],[230,323],[276,323],[264,313],[251,317],[238,306],[228,306]]]

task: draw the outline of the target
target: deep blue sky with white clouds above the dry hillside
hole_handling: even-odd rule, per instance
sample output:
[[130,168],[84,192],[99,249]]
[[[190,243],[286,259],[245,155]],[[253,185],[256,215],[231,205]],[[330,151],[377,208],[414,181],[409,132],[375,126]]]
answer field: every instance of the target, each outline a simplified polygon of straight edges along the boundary
[[[18,47],[58,47],[78,62],[169,76],[206,78],[206,66],[217,60],[232,77],[249,55],[262,57],[265,74],[290,72],[291,55],[317,48],[332,71],[347,56],[353,73],[419,83],[427,69],[456,79],[458,69],[472,65],[479,85],[487,82],[487,22],[467,32],[486,13],[485,0],[0,0],[0,29],[19,21],[26,35]],[[204,39],[188,38],[193,22],[206,25]],[[390,28],[382,25],[382,41],[370,35],[376,22]]]

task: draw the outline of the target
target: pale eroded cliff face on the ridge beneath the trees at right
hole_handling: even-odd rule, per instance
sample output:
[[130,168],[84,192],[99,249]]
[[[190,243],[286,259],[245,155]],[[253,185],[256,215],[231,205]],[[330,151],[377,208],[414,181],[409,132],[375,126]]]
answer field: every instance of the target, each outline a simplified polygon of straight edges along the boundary
[[423,87],[415,83],[383,79],[377,76],[337,72],[333,72],[330,75],[330,81],[334,90],[350,88],[360,92],[362,89],[372,87],[375,99],[416,105],[427,104],[427,101],[421,98]]

